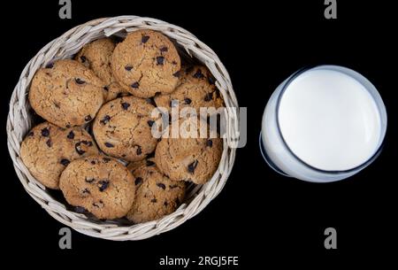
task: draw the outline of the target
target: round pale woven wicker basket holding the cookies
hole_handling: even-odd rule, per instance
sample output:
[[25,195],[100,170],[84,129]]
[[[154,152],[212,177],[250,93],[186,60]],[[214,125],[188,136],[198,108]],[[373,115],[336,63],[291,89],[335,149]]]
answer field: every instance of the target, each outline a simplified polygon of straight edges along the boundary
[[[92,40],[109,35],[123,36],[139,28],[153,29],[167,35],[189,56],[206,65],[217,79],[218,89],[226,103],[227,126],[224,137],[224,151],[218,170],[211,180],[204,185],[190,185],[187,190],[187,200],[172,214],[160,220],[136,225],[128,225],[123,221],[92,220],[84,214],[69,211],[65,204],[57,201],[51,195],[49,189],[43,187],[29,174],[27,167],[19,158],[20,143],[27,131],[35,124],[27,100],[27,92],[34,73],[37,69],[46,66],[51,60],[72,58],[84,44]],[[136,16],[95,19],[74,27],[48,43],[29,61],[22,71],[10,101],[10,112],[7,120],[8,148],[15,171],[27,193],[56,220],[85,235],[119,241],[139,240],[180,226],[180,224],[201,212],[224,187],[235,158],[235,148],[231,145],[239,135],[238,111],[233,110],[233,108],[238,108],[238,104],[226,68],[214,51],[199,41],[195,35],[181,27],[173,26],[158,19]]]

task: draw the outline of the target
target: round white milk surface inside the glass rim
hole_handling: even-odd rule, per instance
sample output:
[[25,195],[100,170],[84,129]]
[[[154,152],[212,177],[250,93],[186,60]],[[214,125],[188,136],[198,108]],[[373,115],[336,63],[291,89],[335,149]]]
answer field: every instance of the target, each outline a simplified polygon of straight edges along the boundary
[[290,150],[321,170],[360,166],[379,146],[380,115],[371,94],[338,71],[315,69],[296,77],[281,96],[278,120]]

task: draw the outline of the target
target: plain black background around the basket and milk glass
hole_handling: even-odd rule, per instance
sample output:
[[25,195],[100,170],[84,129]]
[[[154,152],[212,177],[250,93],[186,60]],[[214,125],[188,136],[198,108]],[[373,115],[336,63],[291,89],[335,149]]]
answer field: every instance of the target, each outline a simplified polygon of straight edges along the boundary
[[[231,2],[231,1],[230,1]],[[300,2],[300,3],[298,3]],[[2,243],[7,253],[36,258],[67,256],[88,264],[126,262],[156,268],[161,256],[240,256],[241,266],[304,258],[336,261],[344,255],[396,249],[397,161],[396,39],[394,7],[338,1],[338,19],[324,18],[324,1],[73,1],[73,19],[59,19],[57,1],[3,7]],[[6,150],[5,120],[19,74],[35,53],[68,29],[118,15],[163,19],[188,29],[216,51],[248,107],[248,144],[237,151],[225,189],[179,228],[138,242],[111,242],[73,231],[73,250],[58,249],[58,223],[29,197]],[[7,16],[8,15],[8,16]],[[388,114],[385,148],[369,167],[346,181],[315,184],[282,177],[258,150],[261,117],[279,83],[302,66],[334,64],[364,74],[379,89]],[[338,250],[326,251],[324,230],[337,229]],[[395,243],[395,248],[394,248]],[[7,254],[5,253],[5,254]],[[126,256],[127,255],[127,256]],[[8,257],[8,256],[7,256]],[[17,260],[18,261],[18,260]],[[17,261],[14,261],[16,263]]]

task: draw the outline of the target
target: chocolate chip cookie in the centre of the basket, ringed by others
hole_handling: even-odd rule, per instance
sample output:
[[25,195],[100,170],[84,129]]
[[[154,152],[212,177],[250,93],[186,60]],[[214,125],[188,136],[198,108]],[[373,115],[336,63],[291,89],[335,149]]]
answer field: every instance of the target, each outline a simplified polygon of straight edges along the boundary
[[157,138],[151,134],[156,119],[155,106],[142,98],[125,96],[104,104],[94,120],[93,132],[106,154],[137,161],[155,150]]

